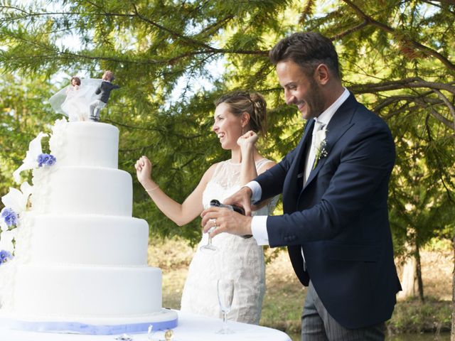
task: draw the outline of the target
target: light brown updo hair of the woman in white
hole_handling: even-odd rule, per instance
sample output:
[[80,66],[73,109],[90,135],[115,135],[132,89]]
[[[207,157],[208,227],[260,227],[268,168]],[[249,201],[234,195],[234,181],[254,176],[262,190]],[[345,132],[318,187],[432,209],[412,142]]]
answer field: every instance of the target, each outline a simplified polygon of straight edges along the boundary
[[[250,114],[250,129],[255,133],[267,135],[267,103],[258,92],[237,91],[224,94],[215,101],[215,107],[228,104],[230,112],[237,117],[244,112]],[[246,132],[246,131],[245,131]]]

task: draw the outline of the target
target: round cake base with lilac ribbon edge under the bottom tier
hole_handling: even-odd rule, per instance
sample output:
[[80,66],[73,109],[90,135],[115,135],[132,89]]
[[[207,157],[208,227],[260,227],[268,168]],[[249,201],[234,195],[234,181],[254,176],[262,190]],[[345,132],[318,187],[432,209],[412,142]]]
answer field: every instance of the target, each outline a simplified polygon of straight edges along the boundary
[[111,318],[66,317],[64,315],[19,315],[0,313],[0,327],[30,332],[58,332],[85,335],[120,335],[143,333],[152,330],[176,328],[176,311],[162,308],[156,313],[140,316],[117,316]]

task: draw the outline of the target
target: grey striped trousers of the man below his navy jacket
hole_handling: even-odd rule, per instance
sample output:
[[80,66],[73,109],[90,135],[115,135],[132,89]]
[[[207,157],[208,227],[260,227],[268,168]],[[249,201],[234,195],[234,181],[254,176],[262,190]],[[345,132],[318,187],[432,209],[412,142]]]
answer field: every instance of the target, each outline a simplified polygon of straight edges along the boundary
[[360,329],[340,325],[323,306],[310,281],[301,315],[302,341],[383,341],[384,332],[385,323]]

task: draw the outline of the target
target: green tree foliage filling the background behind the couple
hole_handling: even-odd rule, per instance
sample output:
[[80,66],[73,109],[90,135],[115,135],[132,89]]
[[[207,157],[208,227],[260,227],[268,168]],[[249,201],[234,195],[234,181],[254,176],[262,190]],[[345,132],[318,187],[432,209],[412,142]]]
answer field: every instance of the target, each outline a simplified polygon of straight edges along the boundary
[[[147,155],[154,178],[182,202],[211,163],[229,158],[210,134],[213,100],[258,90],[269,107],[261,150],[279,161],[304,122],[284,104],[267,53],[295,31],[333,39],[343,80],[395,136],[390,221],[397,251],[453,234],[455,5],[451,1],[0,0],[3,192],[30,141],[56,118],[45,99],[80,74],[114,70],[102,119],[119,127],[119,168]],[[68,41],[73,41],[69,44]],[[225,70],[213,66],[225,65]],[[210,82],[210,85],[207,83]],[[178,95],[176,94],[178,91]],[[152,233],[196,241],[199,220],[176,229],[134,182],[134,215]]]

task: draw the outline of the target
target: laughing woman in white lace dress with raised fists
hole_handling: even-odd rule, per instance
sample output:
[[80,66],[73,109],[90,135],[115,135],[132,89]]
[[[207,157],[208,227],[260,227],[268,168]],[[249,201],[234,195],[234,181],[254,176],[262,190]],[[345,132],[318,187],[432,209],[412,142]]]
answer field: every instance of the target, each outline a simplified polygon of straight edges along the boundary
[[[274,166],[255,146],[257,133],[265,134],[266,102],[257,93],[235,92],[215,102],[213,131],[231,158],[215,163],[200,179],[198,186],[183,204],[168,197],[151,179],[151,162],[146,156],[137,161],[137,178],[161,212],[179,226],[191,222],[210,205],[210,200],[223,202],[258,174]],[[264,203],[257,212],[269,215],[276,200]],[[217,251],[201,251],[207,244],[203,237],[188,270],[183,288],[181,310],[216,318],[222,316],[218,305],[218,278],[235,280],[235,294],[229,320],[259,323],[265,291],[265,266],[262,247],[255,239],[220,234],[213,239]]]

